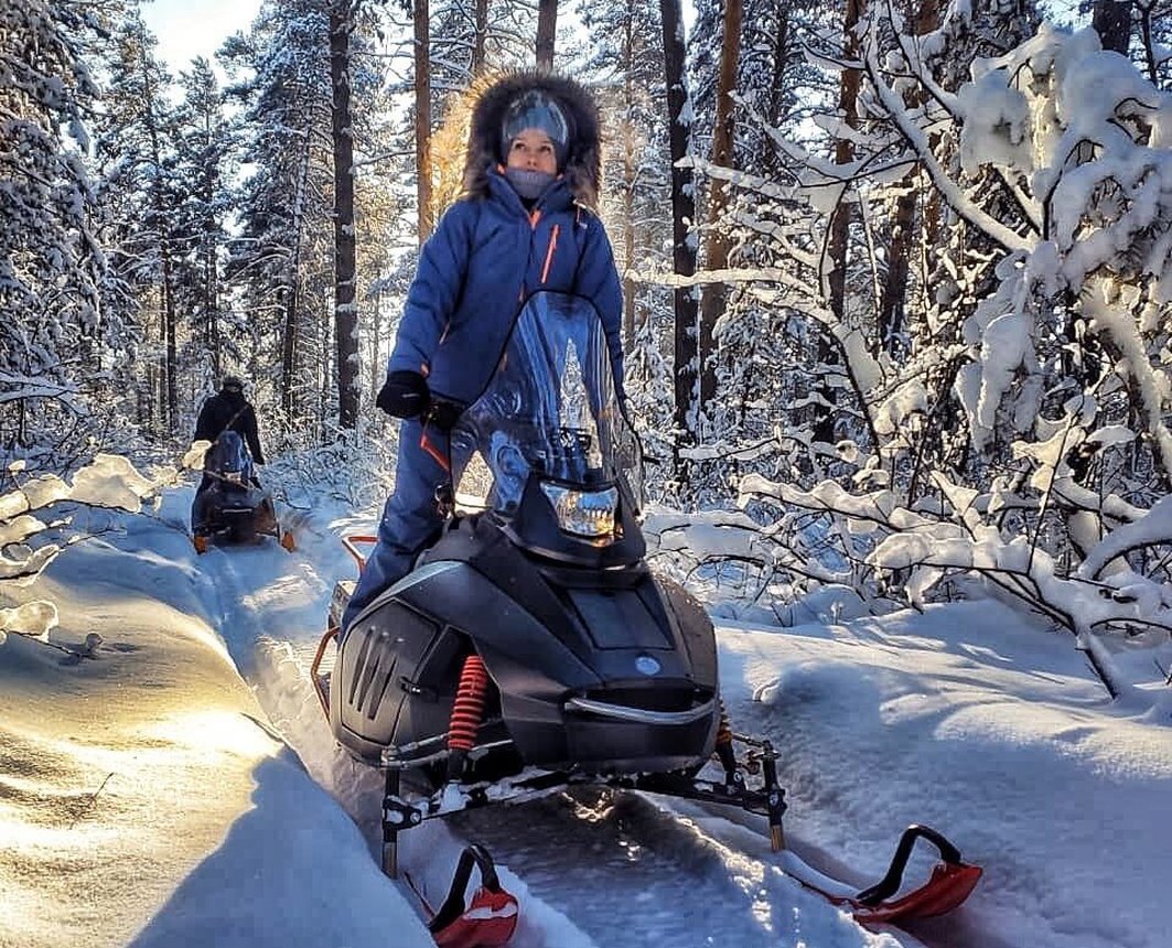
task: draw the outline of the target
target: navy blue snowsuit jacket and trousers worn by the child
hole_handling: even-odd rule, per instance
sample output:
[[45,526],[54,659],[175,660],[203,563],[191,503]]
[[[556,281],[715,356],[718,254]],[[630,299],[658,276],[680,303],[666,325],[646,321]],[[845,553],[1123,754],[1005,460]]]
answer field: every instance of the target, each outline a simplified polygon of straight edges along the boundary
[[[488,384],[525,298],[539,289],[590,299],[606,330],[622,393],[622,293],[601,220],[574,204],[564,179],[526,210],[499,168],[488,192],[454,204],[423,247],[388,371],[427,376],[431,393],[470,403]],[[441,526],[435,490],[443,468],[421,448],[417,418],[402,423],[395,490],[383,509],[379,541],[342,616],[343,630],[379,593],[410,571]],[[428,429],[442,453],[447,443]]]

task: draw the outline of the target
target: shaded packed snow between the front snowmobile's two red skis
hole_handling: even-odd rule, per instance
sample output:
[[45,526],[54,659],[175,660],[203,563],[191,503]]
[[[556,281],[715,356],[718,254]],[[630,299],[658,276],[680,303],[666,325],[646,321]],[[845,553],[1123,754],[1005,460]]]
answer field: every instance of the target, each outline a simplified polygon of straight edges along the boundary
[[499,862],[524,867],[533,894],[600,946],[647,932],[674,948],[922,948],[904,932],[868,932],[802,888],[770,862],[759,832],[683,817],[642,793],[578,790],[451,820]]

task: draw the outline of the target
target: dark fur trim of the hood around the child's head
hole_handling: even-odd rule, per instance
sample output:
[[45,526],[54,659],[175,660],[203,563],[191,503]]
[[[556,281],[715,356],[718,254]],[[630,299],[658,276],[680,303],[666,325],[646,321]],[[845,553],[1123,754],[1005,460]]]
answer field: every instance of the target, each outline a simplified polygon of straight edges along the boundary
[[570,120],[568,156],[561,173],[579,204],[597,206],[602,171],[598,107],[590,93],[572,79],[537,71],[502,76],[477,97],[464,159],[465,193],[488,196],[489,170],[500,163],[500,129],[505,111],[517,96],[533,89],[556,98]]

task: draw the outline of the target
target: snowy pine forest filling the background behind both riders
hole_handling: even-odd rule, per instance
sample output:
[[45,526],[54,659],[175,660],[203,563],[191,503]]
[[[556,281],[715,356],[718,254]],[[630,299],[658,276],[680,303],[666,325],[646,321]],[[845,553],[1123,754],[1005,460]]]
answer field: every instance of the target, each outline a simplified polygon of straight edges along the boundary
[[686,568],[873,609],[979,575],[1122,688],[1097,636],[1172,609],[1172,4],[688,21],[265,0],[176,75],[137,2],[0,0],[0,495],[173,459],[226,371],[277,472],[382,492],[373,396],[471,96],[553,68],[602,111],[648,484],[724,531]]

